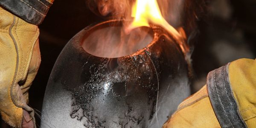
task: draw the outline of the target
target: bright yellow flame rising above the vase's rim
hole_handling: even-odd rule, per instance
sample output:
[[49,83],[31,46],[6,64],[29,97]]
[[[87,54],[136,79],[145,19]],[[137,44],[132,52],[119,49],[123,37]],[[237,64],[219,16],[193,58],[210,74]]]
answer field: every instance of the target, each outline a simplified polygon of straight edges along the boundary
[[162,16],[157,0],[137,0],[132,8],[133,22],[129,29],[140,26],[149,26],[149,23],[159,25],[172,33],[175,39],[179,40],[182,36],[173,28]]

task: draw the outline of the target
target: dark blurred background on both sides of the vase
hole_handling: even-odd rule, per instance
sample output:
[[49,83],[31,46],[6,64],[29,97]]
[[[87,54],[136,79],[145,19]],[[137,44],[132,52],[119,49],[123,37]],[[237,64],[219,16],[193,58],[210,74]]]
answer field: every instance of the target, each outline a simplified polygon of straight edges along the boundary
[[[212,0],[198,24],[193,41],[192,93],[207,73],[238,58],[256,58],[256,1]],[[44,90],[52,67],[65,44],[84,27],[103,21],[87,8],[85,0],[55,0],[40,28],[41,66],[29,90],[29,105],[40,115]],[[40,116],[35,115],[40,126]],[[9,128],[0,121],[0,128]]]

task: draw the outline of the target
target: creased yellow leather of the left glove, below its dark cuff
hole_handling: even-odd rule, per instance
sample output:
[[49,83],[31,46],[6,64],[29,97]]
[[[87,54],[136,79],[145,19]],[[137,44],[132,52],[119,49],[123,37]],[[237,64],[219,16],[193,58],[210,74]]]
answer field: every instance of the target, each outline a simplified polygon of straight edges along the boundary
[[28,90],[41,62],[38,26],[0,7],[0,113],[2,119],[21,128],[23,109],[34,122]]

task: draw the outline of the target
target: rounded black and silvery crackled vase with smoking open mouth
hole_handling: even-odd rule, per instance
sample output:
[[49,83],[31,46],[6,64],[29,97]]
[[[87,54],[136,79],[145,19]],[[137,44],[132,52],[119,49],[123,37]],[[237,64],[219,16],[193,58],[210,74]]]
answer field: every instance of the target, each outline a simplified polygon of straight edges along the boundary
[[122,31],[110,20],[67,43],[47,84],[41,127],[157,128],[190,95],[172,35],[160,27]]

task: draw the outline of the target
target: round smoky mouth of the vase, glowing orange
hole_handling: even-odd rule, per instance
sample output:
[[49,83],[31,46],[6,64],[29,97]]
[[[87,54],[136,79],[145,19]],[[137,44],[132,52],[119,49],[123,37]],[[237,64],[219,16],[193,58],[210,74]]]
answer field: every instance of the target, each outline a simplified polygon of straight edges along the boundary
[[125,33],[122,20],[108,20],[88,28],[81,47],[90,55],[101,58],[120,58],[137,54],[155,42],[151,27],[138,27]]

